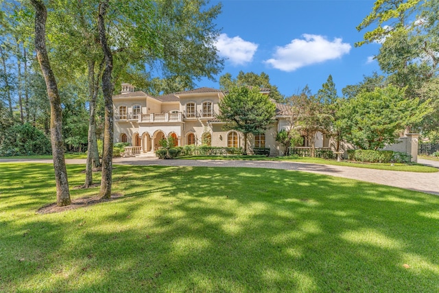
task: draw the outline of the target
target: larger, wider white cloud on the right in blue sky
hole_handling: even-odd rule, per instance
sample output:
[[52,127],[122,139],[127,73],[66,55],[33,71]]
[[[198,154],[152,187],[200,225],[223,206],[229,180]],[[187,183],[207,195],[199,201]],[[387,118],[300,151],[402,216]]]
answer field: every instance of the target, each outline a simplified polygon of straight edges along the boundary
[[300,67],[341,58],[351,51],[351,45],[341,38],[327,40],[324,36],[303,34],[285,47],[277,47],[273,58],[265,62],[281,71],[295,71]]

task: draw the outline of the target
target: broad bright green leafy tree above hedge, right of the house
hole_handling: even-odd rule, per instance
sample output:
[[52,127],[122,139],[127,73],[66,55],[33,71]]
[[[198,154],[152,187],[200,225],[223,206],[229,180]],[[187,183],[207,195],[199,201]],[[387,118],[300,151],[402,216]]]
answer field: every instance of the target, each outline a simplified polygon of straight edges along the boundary
[[342,137],[362,150],[378,150],[395,143],[405,126],[431,113],[430,100],[405,99],[405,89],[390,85],[363,91],[340,108]]

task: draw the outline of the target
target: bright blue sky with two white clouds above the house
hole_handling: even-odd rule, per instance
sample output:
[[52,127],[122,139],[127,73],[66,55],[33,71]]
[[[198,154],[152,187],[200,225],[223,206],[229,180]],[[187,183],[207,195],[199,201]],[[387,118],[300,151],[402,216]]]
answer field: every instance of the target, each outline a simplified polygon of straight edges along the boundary
[[[215,4],[219,1],[211,1]],[[215,23],[222,30],[217,41],[226,58],[224,73],[239,71],[270,76],[286,96],[308,85],[317,93],[329,74],[338,94],[364,75],[379,71],[379,44],[354,47],[364,32],[356,28],[372,10],[374,0],[223,0]],[[219,89],[218,82],[198,86]]]

